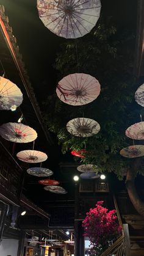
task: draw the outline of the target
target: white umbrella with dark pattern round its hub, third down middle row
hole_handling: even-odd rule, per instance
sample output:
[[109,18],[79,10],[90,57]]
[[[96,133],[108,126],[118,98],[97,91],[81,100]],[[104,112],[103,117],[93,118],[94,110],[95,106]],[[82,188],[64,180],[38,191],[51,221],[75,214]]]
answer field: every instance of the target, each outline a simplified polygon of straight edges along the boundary
[[90,137],[99,132],[100,125],[93,119],[79,117],[67,123],[67,130],[77,137]]

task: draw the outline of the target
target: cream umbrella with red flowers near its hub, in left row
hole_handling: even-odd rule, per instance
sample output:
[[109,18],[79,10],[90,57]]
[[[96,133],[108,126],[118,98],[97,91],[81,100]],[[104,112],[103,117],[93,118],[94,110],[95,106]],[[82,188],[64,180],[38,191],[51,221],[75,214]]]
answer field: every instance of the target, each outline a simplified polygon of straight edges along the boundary
[[27,143],[37,138],[36,131],[22,123],[4,123],[0,126],[0,135],[7,141],[16,143]]

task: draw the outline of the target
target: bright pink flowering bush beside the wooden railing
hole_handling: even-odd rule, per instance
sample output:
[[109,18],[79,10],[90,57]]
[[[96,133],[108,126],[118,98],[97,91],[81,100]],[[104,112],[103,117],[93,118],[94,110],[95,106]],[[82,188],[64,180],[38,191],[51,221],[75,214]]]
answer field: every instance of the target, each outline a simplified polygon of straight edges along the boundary
[[91,208],[82,222],[84,236],[89,237],[92,246],[90,255],[101,255],[121,233],[122,228],[118,225],[116,211],[108,211],[102,207],[103,203],[97,202],[96,208]]

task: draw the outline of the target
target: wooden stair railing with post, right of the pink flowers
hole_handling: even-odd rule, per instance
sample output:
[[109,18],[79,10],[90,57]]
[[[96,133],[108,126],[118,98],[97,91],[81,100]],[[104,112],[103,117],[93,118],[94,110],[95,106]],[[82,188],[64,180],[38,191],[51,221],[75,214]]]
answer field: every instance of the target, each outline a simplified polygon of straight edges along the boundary
[[115,210],[117,211],[118,223],[122,227],[122,235],[115,243],[112,244],[101,256],[130,256],[130,240],[128,224],[123,224],[121,221],[120,211],[115,195],[113,195],[113,202],[115,204]]

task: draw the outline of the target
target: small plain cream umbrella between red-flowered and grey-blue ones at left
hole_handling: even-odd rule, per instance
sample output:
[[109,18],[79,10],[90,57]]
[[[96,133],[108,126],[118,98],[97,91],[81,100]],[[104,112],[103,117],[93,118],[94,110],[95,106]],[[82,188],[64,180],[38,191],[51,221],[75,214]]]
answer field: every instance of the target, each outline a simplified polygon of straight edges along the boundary
[[27,163],[41,163],[46,161],[48,156],[37,150],[23,150],[16,154],[17,158]]

